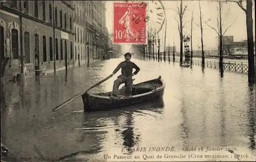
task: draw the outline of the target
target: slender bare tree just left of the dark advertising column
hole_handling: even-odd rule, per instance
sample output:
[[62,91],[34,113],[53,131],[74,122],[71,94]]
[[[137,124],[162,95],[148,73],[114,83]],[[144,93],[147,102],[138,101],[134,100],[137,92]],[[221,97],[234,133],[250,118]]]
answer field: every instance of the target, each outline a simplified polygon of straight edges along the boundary
[[177,21],[178,23],[178,29],[179,29],[179,34],[180,34],[180,65],[183,64],[183,28],[185,26],[185,24],[183,25],[183,16],[184,16],[184,13],[185,13],[185,10],[187,8],[187,6],[184,7],[183,9],[183,5],[182,5],[182,1],[180,1],[180,7],[177,6],[177,9],[174,10],[178,15],[179,15],[179,18],[180,18],[180,21],[178,21],[176,18],[175,20]]

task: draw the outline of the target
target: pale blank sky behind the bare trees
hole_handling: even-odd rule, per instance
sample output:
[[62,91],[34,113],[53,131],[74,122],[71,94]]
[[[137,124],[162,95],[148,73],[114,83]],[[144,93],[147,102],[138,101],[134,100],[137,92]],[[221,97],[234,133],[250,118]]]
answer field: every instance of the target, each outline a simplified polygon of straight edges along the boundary
[[[106,27],[109,30],[109,33],[113,33],[113,2],[123,2],[123,1],[106,1]],[[129,1],[128,1],[129,2]],[[133,1],[134,2],[134,1]],[[150,2],[150,1],[148,1]],[[158,1],[154,1],[158,2]],[[178,31],[178,24],[177,20],[179,20],[178,14],[174,11],[177,10],[177,6],[180,6],[180,1],[161,1],[164,8],[165,8],[165,18],[167,21],[167,29],[166,29],[166,46],[168,44],[173,46],[175,43],[177,50],[179,50],[179,31]],[[254,3],[254,1],[253,1]],[[208,21],[207,24],[217,29],[217,17],[218,17],[218,3],[216,1],[200,1],[201,4],[201,11],[202,11],[202,21]],[[238,6],[236,3],[222,3],[223,5],[223,12],[222,17],[225,19],[225,23],[223,25],[223,30],[226,30],[228,26],[232,24],[232,26],[227,30],[225,36],[233,36],[234,41],[242,41],[247,39],[246,36],[246,15],[245,12]],[[191,28],[191,15],[194,12],[194,23],[193,23],[193,50],[197,50],[198,46],[201,46],[201,31],[199,26],[200,25],[200,10],[199,10],[199,1],[183,1],[183,8],[187,6],[184,17],[183,17],[183,35],[190,35],[190,28]],[[246,8],[246,2],[243,2],[243,6]],[[148,6],[148,8],[154,8],[152,6]],[[254,8],[254,4],[253,4]],[[228,14],[226,14],[228,12]],[[255,15],[254,10],[252,11],[253,17],[253,32],[255,31]],[[209,20],[210,19],[210,20]],[[166,22],[165,21],[165,22]],[[203,41],[204,41],[204,48],[212,49],[217,48],[218,46],[218,35],[215,30],[209,28],[209,26],[203,23]],[[149,25],[148,25],[149,26]],[[161,31],[158,33],[160,39],[164,37],[165,33],[165,24],[163,25]],[[255,33],[253,33],[255,38]],[[200,50],[200,49],[199,49]]]

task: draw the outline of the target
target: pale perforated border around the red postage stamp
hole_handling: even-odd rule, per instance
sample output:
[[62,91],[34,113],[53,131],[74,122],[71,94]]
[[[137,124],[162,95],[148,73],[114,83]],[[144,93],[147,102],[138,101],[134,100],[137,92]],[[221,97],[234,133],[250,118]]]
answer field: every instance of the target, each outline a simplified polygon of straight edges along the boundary
[[[126,2],[126,1],[113,1],[112,2],[112,33],[114,32],[114,4],[115,3],[145,3],[146,4],[146,7],[147,7],[147,10],[148,10],[148,2],[147,1],[129,1],[129,2]],[[147,16],[147,10],[146,10],[146,15]],[[144,20],[143,20],[144,21]],[[115,45],[147,45],[147,32],[148,32],[148,28],[147,28],[147,21],[145,22],[145,29],[146,29],[146,32],[145,32],[145,42],[141,42],[141,43],[132,43],[132,42],[127,42],[127,43],[115,43],[114,42],[114,33],[112,35],[112,44],[115,44]]]

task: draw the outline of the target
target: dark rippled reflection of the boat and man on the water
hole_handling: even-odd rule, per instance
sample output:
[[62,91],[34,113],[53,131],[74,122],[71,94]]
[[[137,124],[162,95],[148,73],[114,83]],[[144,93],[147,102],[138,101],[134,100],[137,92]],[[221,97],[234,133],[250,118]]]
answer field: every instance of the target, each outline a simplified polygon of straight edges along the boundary
[[[132,153],[133,150],[131,148],[139,146],[142,140],[140,138],[140,130],[135,126],[141,123],[135,122],[135,118],[148,116],[149,114],[154,116],[154,113],[162,114],[163,107],[164,102],[161,99],[155,102],[122,107],[122,109],[89,113],[86,114],[87,120],[84,121],[83,127],[90,127],[88,124],[93,120],[96,125],[93,127],[92,131],[108,130],[111,136],[114,136],[116,139],[115,147],[118,147],[119,142],[122,141],[120,147],[127,150],[126,152],[128,153]],[[98,120],[95,120],[94,116],[97,117]],[[112,131],[113,129],[114,132]],[[109,141],[110,136],[105,134],[104,137],[104,139],[101,139],[99,146],[104,146],[103,142]]]

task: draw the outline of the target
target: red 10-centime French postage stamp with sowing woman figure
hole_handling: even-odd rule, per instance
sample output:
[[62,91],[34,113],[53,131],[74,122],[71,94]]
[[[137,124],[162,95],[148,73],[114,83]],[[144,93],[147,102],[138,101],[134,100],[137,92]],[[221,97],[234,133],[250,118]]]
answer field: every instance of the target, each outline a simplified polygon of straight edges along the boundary
[[114,44],[147,43],[146,10],[146,3],[114,3]]

